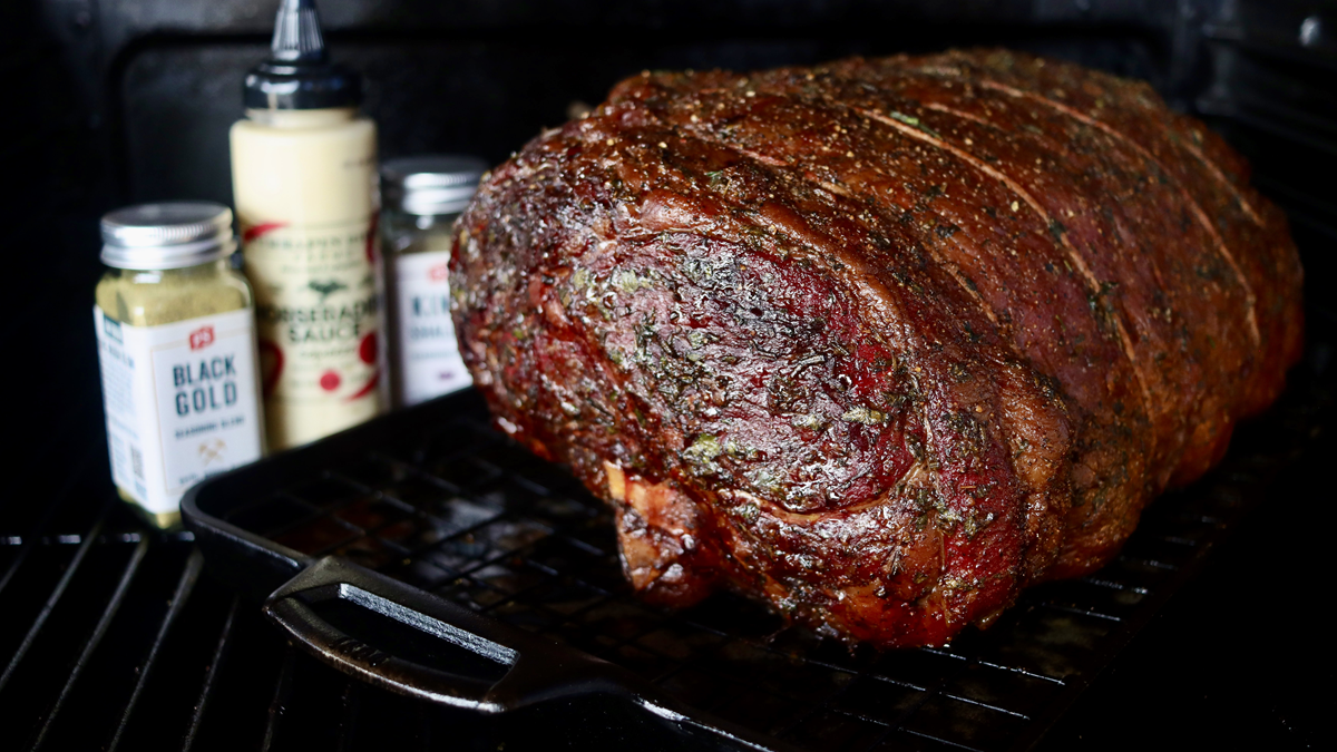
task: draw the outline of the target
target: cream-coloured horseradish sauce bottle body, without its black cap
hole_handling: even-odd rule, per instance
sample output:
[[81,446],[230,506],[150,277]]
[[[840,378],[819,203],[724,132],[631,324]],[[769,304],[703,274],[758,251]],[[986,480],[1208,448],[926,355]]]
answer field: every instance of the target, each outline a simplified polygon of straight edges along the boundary
[[[231,151],[269,446],[282,450],[382,408],[380,364],[368,357],[380,328],[368,257],[378,203],[376,126],[352,108],[249,110],[233,126]],[[373,246],[364,250],[366,242]]]

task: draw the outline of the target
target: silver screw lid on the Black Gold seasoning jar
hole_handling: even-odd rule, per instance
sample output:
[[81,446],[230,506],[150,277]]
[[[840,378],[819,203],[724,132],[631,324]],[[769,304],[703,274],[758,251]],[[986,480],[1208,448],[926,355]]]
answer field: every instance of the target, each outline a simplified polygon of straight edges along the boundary
[[140,203],[102,218],[102,262],[116,269],[182,269],[237,250],[233,210],[211,201]]

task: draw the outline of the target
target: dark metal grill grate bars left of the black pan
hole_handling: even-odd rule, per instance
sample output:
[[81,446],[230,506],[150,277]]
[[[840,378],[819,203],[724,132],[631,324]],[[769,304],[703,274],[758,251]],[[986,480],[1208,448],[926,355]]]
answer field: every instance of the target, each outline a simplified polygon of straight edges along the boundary
[[202,571],[189,533],[150,530],[88,475],[57,503],[0,508],[0,748],[381,749],[390,739],[427,751],[452,733],[480,749],[495,736],[297,653]]

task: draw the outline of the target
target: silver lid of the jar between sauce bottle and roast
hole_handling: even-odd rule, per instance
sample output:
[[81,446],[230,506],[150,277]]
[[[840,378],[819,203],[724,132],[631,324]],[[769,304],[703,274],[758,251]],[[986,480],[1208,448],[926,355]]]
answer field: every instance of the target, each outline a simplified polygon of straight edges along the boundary
[[488,163],[477,157],[401,157],[381,166],[381,191],[392,209],[405,214],[455,214],[469,205],[487,171]]

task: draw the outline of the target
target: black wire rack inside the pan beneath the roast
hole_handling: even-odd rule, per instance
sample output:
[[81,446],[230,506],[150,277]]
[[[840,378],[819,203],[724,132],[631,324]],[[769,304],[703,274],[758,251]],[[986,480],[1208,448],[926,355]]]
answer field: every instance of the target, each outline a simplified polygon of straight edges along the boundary
[[1274,411],[1209,479],[1148,508],[1102,571],[1032,589],[995,626],[949,648],[878,654],[730,594],[682,612],[639,602],[607,508],[468,404],[226,519],[556,638],[783,743],[849,751],[991,751],[1038,739],[1191,575],[1305,431],[1294,411]]

